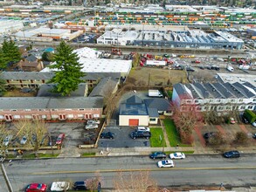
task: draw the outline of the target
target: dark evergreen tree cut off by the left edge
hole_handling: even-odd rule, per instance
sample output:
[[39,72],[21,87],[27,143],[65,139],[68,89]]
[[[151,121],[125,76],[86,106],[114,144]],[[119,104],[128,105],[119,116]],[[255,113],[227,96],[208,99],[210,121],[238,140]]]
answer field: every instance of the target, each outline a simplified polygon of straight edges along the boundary
[[15,42],[3,41],[2,50],[0,51],[0,68],[6,68],[11,62],[17,63],[21,59],[21,52],[18,50]]

